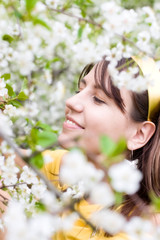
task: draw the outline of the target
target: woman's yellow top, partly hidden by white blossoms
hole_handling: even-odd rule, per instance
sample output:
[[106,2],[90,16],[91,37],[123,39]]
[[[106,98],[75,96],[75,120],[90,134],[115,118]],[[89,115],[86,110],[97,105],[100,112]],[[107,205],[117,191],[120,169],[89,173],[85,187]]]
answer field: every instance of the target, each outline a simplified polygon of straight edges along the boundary
[[[45,151],[44,154],[50,155],[53,159],[52,162],[49,162],[42,168],[42,172],[46,177],[53,182],[53,184],[59,189],[63,190],[65,186],[62,186],[59,182],[59,170],[61,159],[63,155],[67,153],[66,150],[56,150],[56,151]],[[87,201],[83,200],[77,205],[77,210],[85,218],[89,218],[90,215],[100,209],[101,207],[96,204],[89,204]],[[104,232],[93,233],[93,230],[86,225],[82,219],[78,219],[73,228],[67,232],[58,232],[53,237],[52,240],[128,240],[127,236],[124,233],[117,234],[114,237],[107,237],[104,235]]]

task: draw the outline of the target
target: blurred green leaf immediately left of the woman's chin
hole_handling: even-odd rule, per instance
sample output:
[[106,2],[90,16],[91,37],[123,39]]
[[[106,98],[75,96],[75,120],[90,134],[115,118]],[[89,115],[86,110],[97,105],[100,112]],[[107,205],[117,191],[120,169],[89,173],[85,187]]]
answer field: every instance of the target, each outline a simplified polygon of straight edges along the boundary
[[44,148],[52,145],[57,141],[57,136],[55,133],[50,132],[50,131],[38,131],[37,133],[37,145],[40,145]]

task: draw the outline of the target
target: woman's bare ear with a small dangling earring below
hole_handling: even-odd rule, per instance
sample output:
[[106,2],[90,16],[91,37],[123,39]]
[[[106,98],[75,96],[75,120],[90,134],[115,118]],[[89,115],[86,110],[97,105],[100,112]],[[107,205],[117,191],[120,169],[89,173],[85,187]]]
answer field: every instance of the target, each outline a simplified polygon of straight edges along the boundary
[[128,139],[127,146],[129,150],[136,150],[143,147],[153,136],[155,124],[150,121],[139,123],[134,134]]

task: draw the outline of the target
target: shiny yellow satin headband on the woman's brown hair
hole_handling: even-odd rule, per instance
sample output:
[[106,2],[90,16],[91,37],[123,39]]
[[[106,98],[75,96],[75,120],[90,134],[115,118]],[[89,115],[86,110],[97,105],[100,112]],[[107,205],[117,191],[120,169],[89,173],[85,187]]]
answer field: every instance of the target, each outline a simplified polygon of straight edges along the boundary
[[153,79],[153,86],[148,87],[148,121],[152,121],[154,114],[160,110],[160,71],[152,58],[146,57],[141,59],[139,57],[132,57],[142,70],[144,76],[150,75]]

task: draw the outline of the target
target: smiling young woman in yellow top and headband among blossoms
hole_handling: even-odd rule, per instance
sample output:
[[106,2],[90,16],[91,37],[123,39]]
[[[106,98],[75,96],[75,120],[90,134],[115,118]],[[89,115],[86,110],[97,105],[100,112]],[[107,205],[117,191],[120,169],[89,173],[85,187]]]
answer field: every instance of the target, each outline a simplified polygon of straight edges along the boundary
[[[105,134],[115,141],[122,136],[126,138],[131,160],[138,159],[137,168],[143,173],[140,189],[135,196],[139,199],[138,206],[133,196],[125,196],[121,213],[128,218],[141,215],[140,209],[150,203],[151,192],[160,196],[160,74],[155,67],[152,68],[154,63],[151,59],[147,63],[136,58],[131,63],[131,60],[122,59],[117,69],[127,70],[129,65],[136,62],[140,71],[153,75],[156,85],[141,93],[125,87],[118,89],[109,76],[109,62],[102,60],[95,65],[88,65],[80,76],[78,92],[66,101],[66,120],[59,136],[63,148],[78,145],[97,156],[100,154],[101,135]],[[56,182],[65,153],[65,150],[49,152],[54,161],[43,168],[48,179]],[[63,190],[60,182],[56,185]],[[88,218],[97,206],[82,201],[78,209]],[[121,240],[127,239],[127,236],[118,234],[110,238],[103,232],[93,235],[92,229],[79,219],[71,231],[58,233],[53,239]]]

